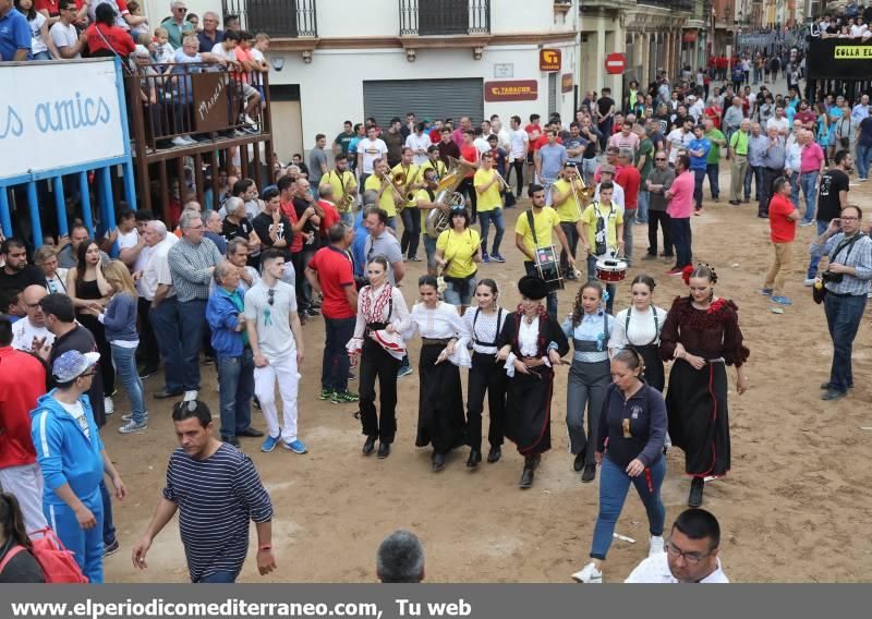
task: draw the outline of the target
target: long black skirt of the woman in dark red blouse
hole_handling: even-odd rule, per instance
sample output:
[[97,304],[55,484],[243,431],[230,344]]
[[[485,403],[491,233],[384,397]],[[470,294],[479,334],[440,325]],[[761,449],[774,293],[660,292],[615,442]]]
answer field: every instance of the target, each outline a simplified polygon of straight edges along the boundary
[[694,477],[726,475],[729,471],[727,371],[723,362],[694,369],[677,360],[666,395],[669,437],[685,451],[685,472]]

